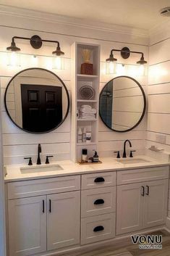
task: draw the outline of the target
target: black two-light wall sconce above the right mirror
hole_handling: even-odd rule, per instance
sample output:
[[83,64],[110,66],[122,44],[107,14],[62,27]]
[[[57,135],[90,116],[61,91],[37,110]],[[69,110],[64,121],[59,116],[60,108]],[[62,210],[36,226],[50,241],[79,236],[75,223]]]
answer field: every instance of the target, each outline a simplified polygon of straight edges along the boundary
[[[145,61],[145,59],[144,59],[143,52],[140,52],[140,51],[130,51],[129,48],[127,48],[127,47],[124,47],[121,50],[119,50],[119,49],[111,49],[111,53],[109,55],[109,58],[106,59],[106,74],[114,74],[114,73],[116,73],[116,70],[120,70],[120,69],[116,68],[116,61],[117,61],[117,59],[114,58],[114,51],[119,51],[121,53],[121,56],[122,56],[123,59],[128,59],[129,56],[130,56],[130,53],[141,54],[140,60],[138,60],[136,63],[138,65],[145,65],[147,63]],[[109,65],[107,63],[109,63]],[[114,71],[115,71],[114,73],[113,73],[113,67],[112,67],[113,65],[114,65]],[[109,67],[111,67],[111,68],[109,68]],[[122,67],[124,67],[124,66],[122,65]],[[122,70],[124,71],[124,68]],[[139,70],[145,70],[145,69],[139,69]]]

